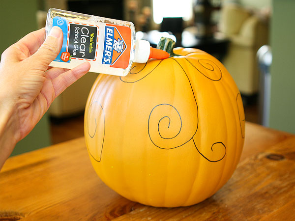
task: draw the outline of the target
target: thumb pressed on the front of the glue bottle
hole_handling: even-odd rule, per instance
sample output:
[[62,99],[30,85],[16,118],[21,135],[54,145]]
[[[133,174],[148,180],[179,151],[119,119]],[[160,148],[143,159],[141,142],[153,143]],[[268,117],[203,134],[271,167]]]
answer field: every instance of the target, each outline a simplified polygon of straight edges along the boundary
[[59,55],[59,51],[62,46],[63,34],[62,30],[54,26],[51,28],[49,35],[46,37],[43,44],[37,50],[36,53],[31,55],[29,58],[37,63],[38,66],[44,68],[42,71],[46,71],[48,65],[53,61],[57,55]]

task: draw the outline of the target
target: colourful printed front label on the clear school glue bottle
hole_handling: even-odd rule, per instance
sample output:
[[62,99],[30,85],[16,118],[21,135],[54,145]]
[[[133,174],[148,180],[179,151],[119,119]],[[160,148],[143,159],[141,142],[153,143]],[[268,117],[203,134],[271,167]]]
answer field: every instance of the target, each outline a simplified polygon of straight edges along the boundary
[[70,22],[58,16],[53,18],[53,26],[59,26],[63,32],[62,47],[54,61],[70,63],[76,59],[96,61],[108,67],[128,67],[131,50],[129,27]]

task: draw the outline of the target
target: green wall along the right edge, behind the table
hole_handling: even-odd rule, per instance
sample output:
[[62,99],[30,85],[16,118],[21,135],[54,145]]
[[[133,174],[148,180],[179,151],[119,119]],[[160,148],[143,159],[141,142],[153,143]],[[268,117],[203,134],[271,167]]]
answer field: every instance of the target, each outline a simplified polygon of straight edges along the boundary
[[295,133],[295,0],[273,0],[269,126]]

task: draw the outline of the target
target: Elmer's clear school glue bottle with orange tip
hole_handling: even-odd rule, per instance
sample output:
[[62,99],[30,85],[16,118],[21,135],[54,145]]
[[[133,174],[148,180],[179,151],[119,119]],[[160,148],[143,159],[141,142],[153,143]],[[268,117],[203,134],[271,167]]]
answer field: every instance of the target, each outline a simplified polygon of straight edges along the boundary
[[91,72],[126,76],[133,62],[169,57],[167,52],[151,48],[148,41],[136,40],[131,22],[51,8],[46,36],[53,26],[62,29],[63,43],[52,67],[71,69],[89,61]]

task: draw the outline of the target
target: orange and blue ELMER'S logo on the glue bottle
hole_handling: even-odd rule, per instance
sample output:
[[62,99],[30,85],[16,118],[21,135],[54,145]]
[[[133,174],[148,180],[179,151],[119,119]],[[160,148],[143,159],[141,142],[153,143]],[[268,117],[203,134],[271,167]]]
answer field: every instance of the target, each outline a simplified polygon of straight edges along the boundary
[[[128,30],[129,29],[129,30]],[[124,26],[106,25],[102,63],[126,68],[129,64],[131,30]]]

